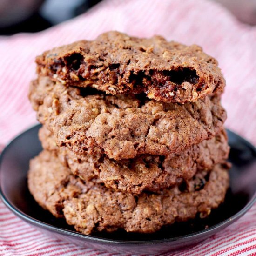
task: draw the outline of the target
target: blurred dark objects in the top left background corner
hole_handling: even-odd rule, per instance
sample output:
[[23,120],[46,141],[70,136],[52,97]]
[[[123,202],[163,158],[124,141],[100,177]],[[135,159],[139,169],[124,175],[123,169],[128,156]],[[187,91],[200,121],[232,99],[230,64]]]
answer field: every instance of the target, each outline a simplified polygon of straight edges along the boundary
[[69,20],[101,0],[0,0],[0,34],[37,32]]

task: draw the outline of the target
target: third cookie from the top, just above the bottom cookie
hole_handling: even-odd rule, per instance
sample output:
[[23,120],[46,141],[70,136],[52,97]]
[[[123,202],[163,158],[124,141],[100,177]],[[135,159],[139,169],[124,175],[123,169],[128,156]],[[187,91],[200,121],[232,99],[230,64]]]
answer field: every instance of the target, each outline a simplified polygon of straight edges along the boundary
[[228,158],[229,145],[223,130],[208,141],[168,156],[137,155],[133,159],[115,161],[107,155],[77,155],[66,147],[58,147],[53,134],[42,127],[39,138],[44,149],[58,155],[74,175],[85,181],[99,178],[105,186],[130,194],[159,191],[191,179],[196,171],[209,171]]

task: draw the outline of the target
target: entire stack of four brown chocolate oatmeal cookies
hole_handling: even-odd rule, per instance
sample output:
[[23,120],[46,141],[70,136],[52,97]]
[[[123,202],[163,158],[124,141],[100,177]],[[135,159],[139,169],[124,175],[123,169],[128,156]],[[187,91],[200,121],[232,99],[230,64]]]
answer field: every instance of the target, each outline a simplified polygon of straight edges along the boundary
[[34,199],[84,234],[208,216],[229,187],[225,81],[202,48],[118,32],[36,58]]

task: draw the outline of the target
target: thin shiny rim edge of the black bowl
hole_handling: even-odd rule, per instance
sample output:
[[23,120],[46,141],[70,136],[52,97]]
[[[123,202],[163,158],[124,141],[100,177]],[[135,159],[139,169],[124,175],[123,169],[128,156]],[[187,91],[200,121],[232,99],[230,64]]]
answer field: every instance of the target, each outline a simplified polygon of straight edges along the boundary
[[[156,244],[156,243],[168,243],[168,242],[175,242],[175,241],[179,241],[179,242],[183,243],[188,239],[189,240],[191,240],[191,239],[196,240],[197,238],[201,238],[202,236],[208,237],[208,235],[210,235],[212,233],[212,231],[214,231],[215,229],[225,228],[226,226],[230,225],[231,223],[235,222],[237,219],[242,217],[253,206],[253,204],[256,202],[256,191],[255,191],[252,198],[243,207],[243,209],[241,209],[240,211],[238,211],[236,214],[229,217],[228,219],[226,219],[222,222],[219,222],[219,223],[213,225],[212,227],[210,227],[208,229],[203,229],[203,230],[200,230],[200,231],[196,231],[192,234],[170,237],[170,238],[165,238],[165,239],[141,240],[141,241],[115,240],[115,239],[111,239],[111,238],[103,238],[103,237],[98,237],[98,236],[85,235],[85,234],[79,233],[77,231],[58,228],[58,227],[56,227],[52,224],[42,222],[40,220],[37,220],[37,219],[27,215],[24,212],[22,212],[19,208],[14,206],[13,203],[10,202],[7,199],[7,196],[4,194],[4,192],[1,188],[1,173],[2,173],[1,172],[1,165],[2,165],[2,161],[3,161],[3,158],[4,158],[5,154],[7,154],[8,149],[12,146],[14,141],[17,141],[21,136],[23,136],[27,133],[30,133],[33,129],[38,129],[40,126],[41,126],[41,124],[36,124],[36,125],[34,125],[30,128],[27,128],[25,131],[21,132],[19,135],[16,135],[7,144],[7,146],[2,150],[2,152],[0,154],[0,199],[2,199],[2,201],[7,206],[7,208],[10,209],[21,220],[24,220],[27,223],[30,223],[34,226],[37,226],[37,227],[41,228],[41,229],[47,229],[51,232],[58,233],[58,234],[61,234],[61,235],[65,235],[65,236],[72,236],[72,237],[76,237],[76,238],[85,239],[85,240],[90,241],[90,242],[98,242],[98,243],[105,243],[105,244],[126,244],[126,245],[136,245],[136,244],[138,244],[138,245],[141,245],[141,244],[147,245],[147,244],[151,244],[152,245],[152,244]],[[238,137],[241,141],[243,141],[243,143],[246,144],[249,148],[251,148],[252,151],[254,152],[254,154],[256,155],[256,148],[249,141],[245,140],[243,137],[241,137],[240,135],[237,135],[236,133],[230,131],[229,129],[226,129],[226,130],[229,133]]]

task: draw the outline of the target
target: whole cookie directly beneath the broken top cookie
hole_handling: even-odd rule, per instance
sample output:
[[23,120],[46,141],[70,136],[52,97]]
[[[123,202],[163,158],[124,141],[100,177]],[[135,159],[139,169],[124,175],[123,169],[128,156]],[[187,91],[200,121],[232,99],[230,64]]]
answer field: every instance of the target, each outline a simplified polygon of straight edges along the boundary
[[31,83],[29,98],[59,146],[115,160],[181,152],[215,136],[226,120],[216,95],[181,105],[131,95],[88,95],[87,88],[40,77]]

